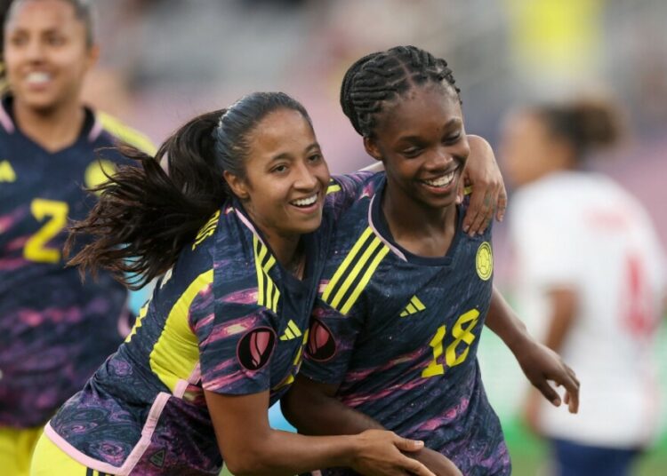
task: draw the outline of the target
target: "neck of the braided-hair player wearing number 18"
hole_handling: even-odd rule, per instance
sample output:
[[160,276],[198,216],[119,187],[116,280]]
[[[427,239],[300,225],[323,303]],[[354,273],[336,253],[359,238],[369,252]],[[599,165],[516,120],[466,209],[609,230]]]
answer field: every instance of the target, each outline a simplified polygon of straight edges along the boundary
[[428,208],[410,197],[396,196],[385,189],[382,212],[394,241],[414,255],[443,257],[454,241],[455,205],[443,209]]

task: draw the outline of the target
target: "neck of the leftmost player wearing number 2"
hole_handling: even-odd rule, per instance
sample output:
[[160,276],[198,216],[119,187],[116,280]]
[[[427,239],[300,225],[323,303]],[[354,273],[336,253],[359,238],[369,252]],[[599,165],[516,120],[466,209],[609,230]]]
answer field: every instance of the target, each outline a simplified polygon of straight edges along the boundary
[[15,99],[13,113],[20,131],[49,152],[74,144],[85,120],[79,103],[38,111]]

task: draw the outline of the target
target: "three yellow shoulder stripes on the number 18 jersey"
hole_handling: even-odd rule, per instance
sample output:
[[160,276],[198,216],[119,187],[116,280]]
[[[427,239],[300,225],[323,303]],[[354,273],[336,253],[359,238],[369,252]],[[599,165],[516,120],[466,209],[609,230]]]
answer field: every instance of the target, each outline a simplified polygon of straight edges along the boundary
[[350,311],[389,251],[389,247],[374,235],[371,227],[367,227],[326,285],[322,299],[343,314]]

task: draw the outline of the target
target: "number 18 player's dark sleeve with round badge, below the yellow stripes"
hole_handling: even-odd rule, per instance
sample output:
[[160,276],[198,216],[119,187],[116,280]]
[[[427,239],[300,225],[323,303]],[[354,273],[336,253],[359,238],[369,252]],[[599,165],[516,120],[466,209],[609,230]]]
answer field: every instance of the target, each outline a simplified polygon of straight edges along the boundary
[[345,316],[318,298],[310,320],[301,374],[317,382],[341,384],[362,324],[356,315]]

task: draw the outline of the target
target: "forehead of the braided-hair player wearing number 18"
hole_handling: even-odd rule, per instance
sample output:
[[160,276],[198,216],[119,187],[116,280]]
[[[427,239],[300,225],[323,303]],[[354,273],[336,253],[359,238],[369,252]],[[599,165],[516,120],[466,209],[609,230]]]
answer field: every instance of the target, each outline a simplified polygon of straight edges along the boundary
[[463,121],[458,95],[452,88],[429,84],[412,88],[382,111],[377,132],[419,136],[440,131],[455,119]]

